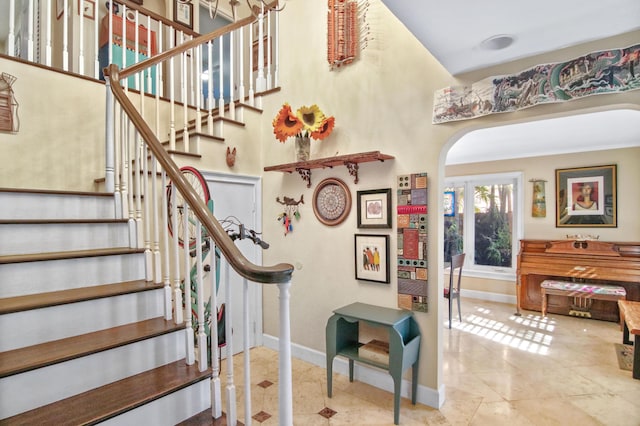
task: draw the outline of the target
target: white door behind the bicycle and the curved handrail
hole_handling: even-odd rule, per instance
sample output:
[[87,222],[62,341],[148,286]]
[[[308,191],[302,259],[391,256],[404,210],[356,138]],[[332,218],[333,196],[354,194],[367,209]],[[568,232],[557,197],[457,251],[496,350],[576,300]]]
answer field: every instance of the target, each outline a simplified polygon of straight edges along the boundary
[[[238,232],[238,223],[242,223],[247,230],[262,232],[261,227],[261,192],[260,178],[221,173],[203,172],[207,181],[211,199],[213,200],[213,214],[226,229]],[[225,219],[229,222],[225,223]],[[235,244],[242,254],[252,263],[262,264],[262,248],[248,239],[236,239]],[[233,268],[225,267],[223,260],[220,272],[220,288],[218,290],[218,306],[225,302],[225,271],[229,271],[231,288],[231,303],[226,304],[227,319],[231,318],[233,327],[232,349],[236,354],[243,350],[244,330],[244,279]],[[250,347],[262,344],[262,289],[260,284],[248,283],[249,296],[249,342]],[[226,350],[223,350],[223,355]]]

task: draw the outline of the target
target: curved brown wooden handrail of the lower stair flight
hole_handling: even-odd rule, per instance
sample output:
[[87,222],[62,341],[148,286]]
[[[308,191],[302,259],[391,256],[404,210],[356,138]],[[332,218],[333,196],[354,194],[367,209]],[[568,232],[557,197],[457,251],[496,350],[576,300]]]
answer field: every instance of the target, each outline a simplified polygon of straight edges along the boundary
[[209,211],[204,201],[196,194],[191,185],[182,176],[182,173],[176,163],[174,163],[174,161],[169,157],[158,138],[155,136],[151,128],[149,128],[146,121],[144,121],[129,97],[125,94],[122,86],[120,85],[120,79],[122,77],[119,75],[118,66],[115,64],[109,65],[106,75],[110,77],[111,91],[115,98],[129,116],[131,122],[135,126],[136,130],[138,130],[138,133],[145,141],[151,152],[155,155],[156,160],[158,160],[162,165],[175,187],[180,191],[193,213],[198,219],[200,219],[201,225],[204,226],[209,235],[212,236],[216,245],[224,254],[231,267],[233,267],[233,269],[242,277],[258,283],[277,284],[291,281],[293,265],[280,263],[274,266],[260,266],[251,263],[242,254],[215,216]]

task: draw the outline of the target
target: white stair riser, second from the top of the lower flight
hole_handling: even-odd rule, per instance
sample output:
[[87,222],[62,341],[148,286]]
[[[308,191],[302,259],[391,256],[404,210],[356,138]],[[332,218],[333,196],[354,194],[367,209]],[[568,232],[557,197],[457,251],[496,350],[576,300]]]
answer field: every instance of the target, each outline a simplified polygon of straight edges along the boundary
[[126,222],[0,224],[0,256],[129,247]]

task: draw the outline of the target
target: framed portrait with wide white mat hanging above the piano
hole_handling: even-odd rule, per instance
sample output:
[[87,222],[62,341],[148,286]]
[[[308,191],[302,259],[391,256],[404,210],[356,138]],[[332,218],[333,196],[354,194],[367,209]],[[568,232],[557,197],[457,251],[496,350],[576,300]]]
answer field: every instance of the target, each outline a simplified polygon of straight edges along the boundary
[[615,228],[617,166],[556,170],[556,227]]

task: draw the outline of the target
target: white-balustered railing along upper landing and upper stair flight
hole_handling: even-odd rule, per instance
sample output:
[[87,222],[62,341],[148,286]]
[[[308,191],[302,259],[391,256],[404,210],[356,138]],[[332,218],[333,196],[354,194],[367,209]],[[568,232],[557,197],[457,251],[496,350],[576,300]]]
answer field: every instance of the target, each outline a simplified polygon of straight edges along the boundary
[[[0,16],[0,53],[96,80],[104,80],[103,69],[111,63],[124,69],[199,36],[129,0],[4,1],[9,13]],[[186,86],[174,94],[175,101],[209,109],[238,100],[254,105],[256,92],[277,87],[278,17],[265,8],[261,12],[235,38],[221,37],[194,55],[185,53],[177,71]],[[152,68],[123,86],[158,90],[165,97],[167,72]]]

